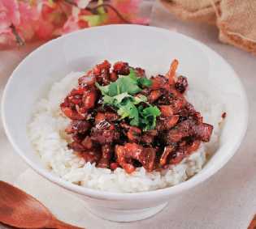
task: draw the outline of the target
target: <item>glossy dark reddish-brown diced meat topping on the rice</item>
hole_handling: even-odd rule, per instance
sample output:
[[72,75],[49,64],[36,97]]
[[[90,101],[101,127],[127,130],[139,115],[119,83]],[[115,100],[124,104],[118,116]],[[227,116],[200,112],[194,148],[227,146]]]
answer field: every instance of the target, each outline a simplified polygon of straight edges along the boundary
[[[128,63],[119,61],[111,68],[103,61],[89,70],[60,104],[71,119],[66,132],[73,142],[68,147],[86,162],[112,170],[124,168],[128,173],[141,166],[148,172],[167,168],[197,151],[201,142],[210,141],[213,126],[204,123],[200,112],[184,98],[188,81],[184,76],[175,77],[177,66],[178,61],[172,61],[166,75],[151,77],[151,86],[134,95],[144,95],[161,112],[154,129],[146,131],[132,126],[128,118],[120,119],[115,107],[102,103],[102,92],[95,86],[109,85],[119,75],[130,74]],[[132,70],[145,78],[145,70]]]

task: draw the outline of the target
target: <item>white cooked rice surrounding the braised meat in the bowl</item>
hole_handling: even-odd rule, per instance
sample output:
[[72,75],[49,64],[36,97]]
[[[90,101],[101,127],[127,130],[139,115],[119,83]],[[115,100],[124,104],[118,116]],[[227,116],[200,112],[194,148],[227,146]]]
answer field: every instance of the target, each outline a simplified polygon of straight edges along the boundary
[[55,175],[75,184],[109,192],[136,193],[163,189],[179,184],[200,172],[206,163],[206,155],[215,151],[223,105],[198,91],[188,91],[187,99],[202,112],[204,121],[214,125],[215,128],[211,141],[202,144],[181,163],[170,166],[163,172],[146,172],[144,168],[137,168],[130,175],[122,168],[112,172],[108,168],[96,168],[95,164],[85,163],[84,159],[67,149],[69,137],[64,129],[70,121],[67,117],[63,117],[59,108],[67,93],[77,86],[77,79],[82,74],[71,73],[59,83],[54,83],[46,99],[40,100],[36,105],[33,120],[28,125],[28,137],[33,148]]

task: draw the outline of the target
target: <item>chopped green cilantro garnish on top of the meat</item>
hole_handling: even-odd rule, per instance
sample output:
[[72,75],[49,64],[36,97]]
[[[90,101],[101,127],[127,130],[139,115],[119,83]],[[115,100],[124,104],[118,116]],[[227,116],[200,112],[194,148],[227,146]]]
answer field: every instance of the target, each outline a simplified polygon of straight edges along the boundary
[[115,107],[120,119],[127,118],[130,125],[139,126],[143,130],[154,129],[156,118],[161,114],[158,107],[147,102],[145,95],[136,95],[142,91],[142,87],[151,85],[150,79],[137,77],[133,69],[130,69],[130,74],[119,76],[115,82],[106,86],[96,83],[96,87],[102,91],[104,104]]

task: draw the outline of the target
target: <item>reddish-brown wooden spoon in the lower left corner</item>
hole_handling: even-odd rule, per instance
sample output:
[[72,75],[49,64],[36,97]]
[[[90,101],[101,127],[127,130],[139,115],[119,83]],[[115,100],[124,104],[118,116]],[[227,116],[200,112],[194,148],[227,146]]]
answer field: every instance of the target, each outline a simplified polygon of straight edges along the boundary
[[59,221],[34,197],[1,180],[0,222],[19,228],[82,229]]

